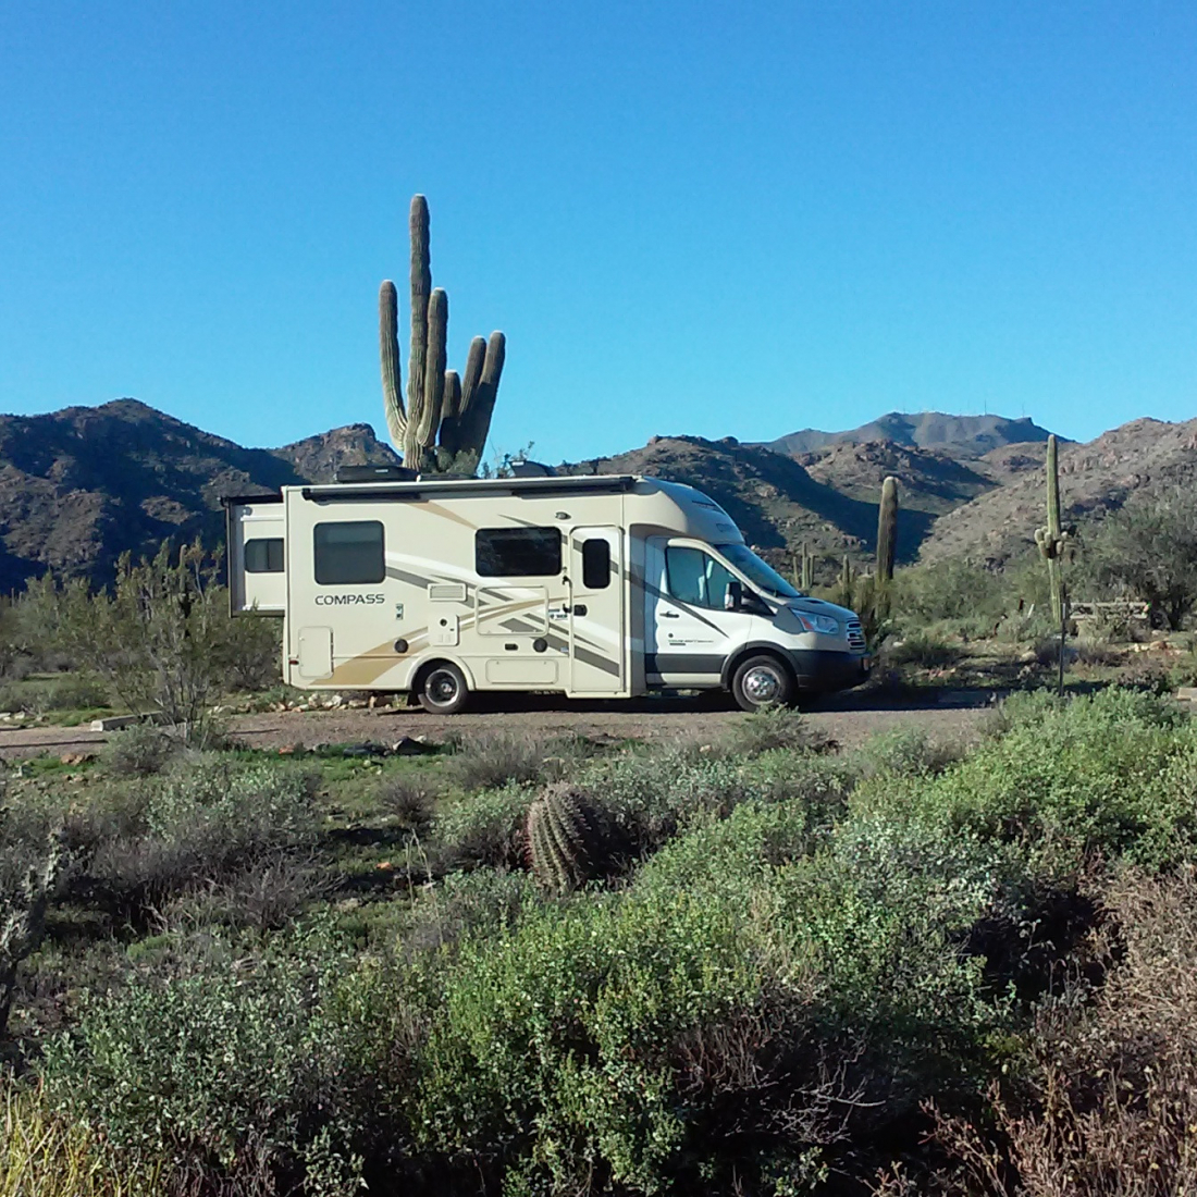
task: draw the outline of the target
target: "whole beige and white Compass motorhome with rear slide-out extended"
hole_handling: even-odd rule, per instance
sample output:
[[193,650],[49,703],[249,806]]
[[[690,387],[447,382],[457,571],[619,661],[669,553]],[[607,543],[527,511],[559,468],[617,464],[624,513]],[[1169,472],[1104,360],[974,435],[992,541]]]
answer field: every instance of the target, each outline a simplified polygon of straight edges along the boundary
[[728,514],[632,475],[287,486],[225,500],[235,614],[284,620],[306,689],[631,698],[730,691],[746,710],[863,681],[857,616],[800,594]]

